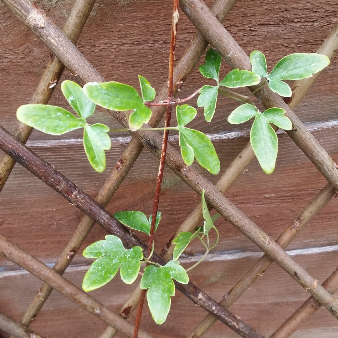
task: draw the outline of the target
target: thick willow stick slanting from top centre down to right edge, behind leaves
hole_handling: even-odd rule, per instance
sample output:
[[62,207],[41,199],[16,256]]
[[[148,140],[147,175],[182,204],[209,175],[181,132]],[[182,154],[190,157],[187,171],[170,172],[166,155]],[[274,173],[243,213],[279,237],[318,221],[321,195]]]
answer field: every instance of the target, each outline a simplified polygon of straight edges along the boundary
[[[215,18],[203,1],[181,0],[180,6],[196,28],[218,50],[231,68],[251,70],[249,57],[231,34]],[[252,86],[249,89],[255,91],[259,86]],[[255,93],[255,96],[266,109],[280,107],[286,111],[285,116],[291,120],[293,126],[292,130],[286,130],[286,133],[308,156],[322,175],[335,187],[336,191],[338,191],[338,170],[336,163],[311,135],[311,132],[298,119],[290,107],[279,95],[270,90],[267,83],[264,84],[261,90]]]

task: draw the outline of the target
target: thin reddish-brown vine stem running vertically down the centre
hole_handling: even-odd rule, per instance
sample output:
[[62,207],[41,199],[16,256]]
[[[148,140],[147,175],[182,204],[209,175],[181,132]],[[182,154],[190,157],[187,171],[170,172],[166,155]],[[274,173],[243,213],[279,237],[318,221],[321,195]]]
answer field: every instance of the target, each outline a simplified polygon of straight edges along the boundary
[[[173,107],[173,104],[175,104],[175,102],[172,102],[172,101],[174,100],[174,61],[175,61],[176,33],[177,33],[177,22],[178,22],[178,4],[179,4],[179,0],[173,0],[170,51],[169,51],[168,99],[167,99],[168,103],[167,103],[166,119],[164,122],[165,128],[170,127],[172,107]],[[154,242],[155,224],[156,224],[156,218],[157,218],[157,211],[159,209],[159,201],[160,201],[160,193],[161,193],[161,186],[162,186],[162,179],[163,179],[164,164],[165,164],[165,159],[166,159],[166,151],[167,151],[167,145],[168,145],[168,137],[169,137],[169,130],[164,130],[159,173],[158,173],[157,180],[156,180],[154,206],[152,209],[152,219],[151,219],[150,234],[149,234],[149,240],[148,240],[148,252],[147,252],[148,257],[151,253],[152,245]],[[145,295],[146,295],[146,290],[142,290],[139,308],[137,310],[134,338],[137,338],[138,336]]]

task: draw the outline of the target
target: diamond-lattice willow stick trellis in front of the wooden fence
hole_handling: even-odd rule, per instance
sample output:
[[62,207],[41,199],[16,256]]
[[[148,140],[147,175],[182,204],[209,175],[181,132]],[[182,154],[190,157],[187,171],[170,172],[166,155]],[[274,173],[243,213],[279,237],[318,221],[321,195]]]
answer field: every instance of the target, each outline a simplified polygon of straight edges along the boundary
[[[94,0],[75,1],[63,31],[54,25],[50,18],[37,5],[29,0],[2,0],[2,2],[48,46],[54,55],[35,90],[31,103],[46,104],[48,102],[53,93],[54,84],[61,77],[64,67],[67,67],[71,73],[75,74],[78,82],[81,84],[90,81],[105,81],[75,47],[80,32],[94,5]],[[250,70],[251,66],[248,56],[221,24],[234,3],[235,0],[216,0],[211,10],[209,10],[201,0],[180,0],[181,9],[199,32],[195,34],[185,54],[175,67],[175,95],[177,94],[177,85],[181,85],[185,81],[209,43],[219,51],[231,68]],[[317,53],[325,54],[332,59],[338,49],[337,34],[338,24],[333,28]],[[201,337],[217,319],[242,337],[262,338],[263,336],[260,333],[245,324],[240,318],[228,311],[227,308],[249,288],[273,261],[305,288],[311,296],[270,338],[289,337],[321,306],[324,306],[338,319],[338,302],[332,296],[338,290],[338,269],[332,273],[323,285],[320,285],[314,277],[284,251],[300,230],[309,223],[338,191],[338,168],[335,162],[292,111],[311,88],[318,76],[319,74],[316,74],[311,78],[296,81],[292,86],[292,97],[286,99],[285,102],[278,95],[273,94],[267,86],[255,94],[265,108],[276,106],[286,110],[286,116],[290,118],[293,124],[293,129],[287,131],[287,134],[328,181],[327,185],[323,187],[303,212],[286,228],[276,242],[224,196],[224,193],[235,182],[236,178],[255,158],[250,143],[238,154],[215,186],[194,168],[187,167],[177,151],[168,145],[166,165],[198,194],[201,194],[202,190],[205,190],[205,196],[210,206],[265,252],[264,256],[251,267],[245,276],[224,295],[219,304],[192,283],[183,285],[175,282],[175,286],[179,291],[209,312],[190,333],[190,338]],[[255,91],[255,89],[256,87],[250,88],[251,91]],[[167,83],[164,83],[156,100],[165,99],[167,94]],[[149,127],[158,125],[165,113],[165,107],[154,107],[152,111],[153,115],[149,121]],[[124,127],[128,126],[123,112],[111,111],[110,113]],[[117,331],[128,337],[132,337],[134,327],[126,319],[138,304],[140,297],[139,288],[135,289],[119,314],[116,314],[89,294],[78,289],[61,275],[71,263],[96,222],[108,233],[119,236],[126,247],[139,245],[146,250],[146,245],[135,234],[114,219],[104,208],[134,165],[143,147],[146,147],[155,156],[160,156],[162,139],[159,134],[153,131],[137,130],[132,132],[132,140],[94,200],[82,192],[69,179],[60,174],[57,169],[43,161],[24,145],[31,131],[32,128],[21,123],[18,123],[13,134],[14,136],[10,135],[2,127],[0,128],[0,148],[6,153],[2,156],[0,162],[0,191],[5,185],[15,161],[17,161],[86,215],[83,216],[73,237],[63,250],[53,269],[48,268],[24,250],[0,236],[1,254],[44,282],[26,311],[21,323],[14,321],[4,314],[0,314],[0,328],[19,338],[40,337],[27,327],[38,314],[51,291],[56,289],[109,325],[101,335],[102,338],[113,337]],[[199,205],[178,228],[176,234],[182,231],[193,230],[201,220],[202,212],[201,205]],[[172,250],[173,245],[171,240],[169,240],[161,255],[155,254],[153,256],[153,261],[164,264],[172,255]],[[150,338],[151,336],[144,331],[140,331],[139,337]]]

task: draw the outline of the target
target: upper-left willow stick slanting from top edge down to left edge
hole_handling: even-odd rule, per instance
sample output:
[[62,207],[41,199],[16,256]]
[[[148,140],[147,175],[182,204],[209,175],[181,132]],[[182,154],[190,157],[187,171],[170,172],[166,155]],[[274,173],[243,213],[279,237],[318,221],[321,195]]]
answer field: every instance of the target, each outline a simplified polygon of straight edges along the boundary
[[[95,0],[76,0],[72,7],[63,31],[74,45],[80,36],[94,3]],[[29,103],[47,104],[64,69],[65,66],[58,61],[55,55],[52,55]],[[32,130],[32,127],[18,122],[13,135],[22,143],[26,143]],[[7,154],[3,154],[0,159],[0,192],[14,165],[15,161]]]

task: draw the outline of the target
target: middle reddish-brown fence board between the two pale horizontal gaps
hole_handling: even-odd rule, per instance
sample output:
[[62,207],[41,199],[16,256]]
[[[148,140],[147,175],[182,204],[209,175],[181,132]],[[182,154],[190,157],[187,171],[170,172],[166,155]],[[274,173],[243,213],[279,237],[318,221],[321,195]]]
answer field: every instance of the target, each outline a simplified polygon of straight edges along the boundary
[[[314,135],[338,161],[338,149],[334,142],[338,136],[338,128],[336,132],[335,130],[332,128],[316,131]],[[275,172],[272,175],[265,175],[255,160],[226,194],[236,206],[247,211],[249,218],[272,238],[279,236],[288,222],[296,217],[325,185],[325,180],[294,143],[285,134],[279,139],[280,150]],[[247,139],[243,138],[215,143],[221,158],[221,168],[226,168],[231,163],[246,142]],[[176,147],[177,143],[174,145]],[[101,175],[91,169],[82,145],[33,147],[32,150],[74,180],[85,192],[95,196],[124,147],[125,145],[113,144],[112,150],[108,152],[107,171]],[[63,158],[65,152],[68,154],[67,158]],[[140,210],[150,215],[157,166],[158,161],[148,151],[143,151],[107,210],[112,213],[120,210]],[[0,195],[1,233],[15,243],[20,243],[20,246],[34,256],[57,257],[71,237],[82,214],[21,166],[17,166],[12,175]],[[211,175],[209,177],[213,182],[218,179]],[[25,189],[22,189],[22,186]],[[138,187],[136,191],[133,186]],[[174,234],[176,228],[200,200],[196,193],[169,170],[165,171],[163,188],[160,202],[163,227],[156,232],[157,250],[160,250]],[[291,244],[292,247],[331,245],[338,241],[335,237],[336,204],[337,199],[333,199],[322,211],[321,217],[324,217],[327,231],[320,230],[321,223],[318,219],[318,222],[311,223],[300,238],[296,239],[295,246]],[[171,221],[171,217],[174,217],[174,222]],[[217,247],[220,251],[257,250],[256,246],[230,223],[219,219],[217,224],[220,224],[221,231]],[[102,236],[103,232],[96,227],[86,244],[101,239]],[[196,252],[200,249],[198,245],[193,245],[189,250]]]

